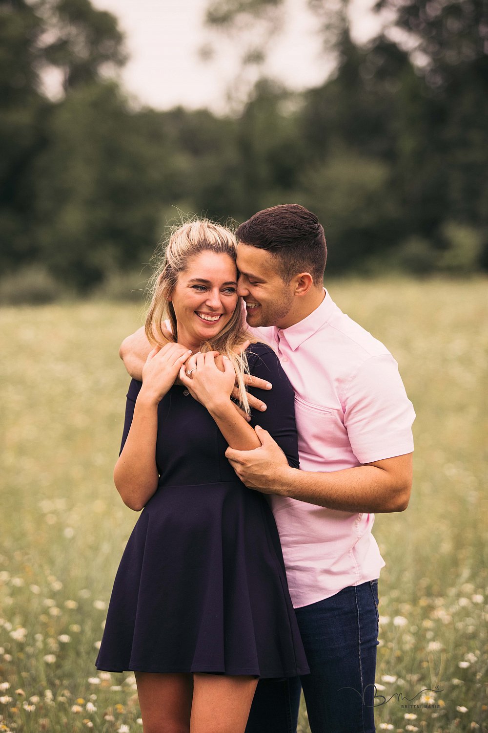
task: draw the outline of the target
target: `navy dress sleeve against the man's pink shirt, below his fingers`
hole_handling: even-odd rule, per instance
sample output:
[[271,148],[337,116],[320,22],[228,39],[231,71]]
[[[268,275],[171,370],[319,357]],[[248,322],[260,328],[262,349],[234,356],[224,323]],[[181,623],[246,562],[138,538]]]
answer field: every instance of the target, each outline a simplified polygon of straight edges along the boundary
[[271,382],[273,388],[257,389],[249,387],[249,394],[266,402],[267,409],[251,410],[252,427],[260,425],[267,430],[285,453],[288,464],[299,468],[299,447],[295,423],[295,393],[290,380],[285,375],[279,359],[271,347],[264,344],[251,344],[247,349],[249,372]]

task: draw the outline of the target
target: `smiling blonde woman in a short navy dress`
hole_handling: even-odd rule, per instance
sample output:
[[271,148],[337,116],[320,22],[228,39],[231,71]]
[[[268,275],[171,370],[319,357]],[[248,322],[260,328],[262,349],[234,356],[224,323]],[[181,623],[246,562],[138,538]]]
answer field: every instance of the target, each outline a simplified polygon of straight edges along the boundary
[[[249,332],[236,280],[228,229],[193,221],[176,230],[146,319],[156,346],[127,394],[114,480],[143,511],[95,664],[135,672],[144,733],[243,732],[259,677],[309,671],[271,509],[225,459],[228,445],[260,445],[248,372],[272,381],[259,422],[298,466],[293,390],[276,355],[255,339],[240,355]],[[174,342],[160,347],[166,316]],[[236,375],[251,424],[230,399]]]

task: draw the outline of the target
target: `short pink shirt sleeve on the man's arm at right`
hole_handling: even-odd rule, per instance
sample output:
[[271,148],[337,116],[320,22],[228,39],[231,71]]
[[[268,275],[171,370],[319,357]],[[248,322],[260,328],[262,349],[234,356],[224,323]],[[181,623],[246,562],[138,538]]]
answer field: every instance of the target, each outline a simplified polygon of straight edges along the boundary
[[345,391],[344,404],[344,424],[360,463],[413,451],[415,410],[390,353],[361,364]]

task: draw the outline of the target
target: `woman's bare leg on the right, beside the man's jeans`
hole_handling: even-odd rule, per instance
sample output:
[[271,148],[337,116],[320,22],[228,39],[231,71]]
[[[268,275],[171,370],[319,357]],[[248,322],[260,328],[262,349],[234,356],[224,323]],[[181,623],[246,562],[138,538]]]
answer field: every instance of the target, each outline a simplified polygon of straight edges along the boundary
[[257,685],[255,677],[195,673],[190,733],[244,733]]

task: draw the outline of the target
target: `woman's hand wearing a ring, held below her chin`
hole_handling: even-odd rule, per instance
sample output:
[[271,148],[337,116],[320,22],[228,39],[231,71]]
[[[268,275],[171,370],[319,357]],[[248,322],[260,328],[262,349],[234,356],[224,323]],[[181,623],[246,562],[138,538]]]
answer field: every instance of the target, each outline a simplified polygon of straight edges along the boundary
[[181,366],[179,377],[192,397],[205,405],[209,412],[230,402],[236,372],[226,356],[222,358],[223,372],[215,363],[217,351],[205,354],[198,352],[187,361],[186,369]]

